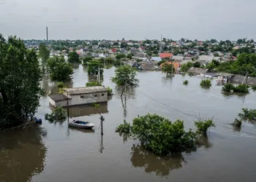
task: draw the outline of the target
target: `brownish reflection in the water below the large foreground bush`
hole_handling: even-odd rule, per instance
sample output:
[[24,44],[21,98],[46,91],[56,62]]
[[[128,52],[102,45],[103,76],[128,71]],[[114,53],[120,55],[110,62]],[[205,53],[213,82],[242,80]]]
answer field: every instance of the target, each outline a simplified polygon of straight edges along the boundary
[[186,163],[181,153],[170,157],[157,157],[139,145],[132,146],[131,162],[132,166],[143,167],[146,173],[155,173],[159,176],[170,175],[171,170],[179,169]]

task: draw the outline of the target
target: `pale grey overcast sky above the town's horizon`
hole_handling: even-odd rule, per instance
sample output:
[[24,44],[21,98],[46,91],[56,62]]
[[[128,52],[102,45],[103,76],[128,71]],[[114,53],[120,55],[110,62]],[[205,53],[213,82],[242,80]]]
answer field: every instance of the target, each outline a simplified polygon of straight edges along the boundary
[[256,0],[0,0],[0,33],[22,39],[256,38]]

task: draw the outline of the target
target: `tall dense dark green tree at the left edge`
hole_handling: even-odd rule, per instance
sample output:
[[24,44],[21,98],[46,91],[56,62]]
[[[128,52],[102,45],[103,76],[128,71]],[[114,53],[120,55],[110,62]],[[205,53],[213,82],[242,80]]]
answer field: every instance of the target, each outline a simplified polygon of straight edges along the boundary
[[34,116],[43,94],[41,79],[37,53],[16,36],[6,41],[0,34],[0,130]]

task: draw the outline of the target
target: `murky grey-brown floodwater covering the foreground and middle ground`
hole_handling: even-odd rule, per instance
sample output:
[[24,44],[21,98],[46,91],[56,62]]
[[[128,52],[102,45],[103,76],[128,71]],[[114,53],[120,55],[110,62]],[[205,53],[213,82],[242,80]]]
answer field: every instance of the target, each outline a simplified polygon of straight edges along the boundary
[[[212,80],[209,90],[200,88],[197,76],[161,72],[139,72],[140,84],[127,89],[110,82],[115,68],[105,70],[103,83],[114,95],[99,108],[70,108],[72,119],[94,122],[94,130],[69,128],[67,121],[0,132],[0,181],[255,181],[256,124],[243,122],[241,130],[230,125],[241,108],[256,108],[255,92],[223,95]],[[83,87],[88,80],[83,66],[75,69],[69,87]],[[189,80],[187,86],[183,85]],[[56,92],[47,76],[42,87]],[[40,100],[37,116],[50,113],[48,98]],[[196,118],[214,118],[217,127],[208,138],[200,138],[196,151],[157,157],[138,141],[115,132],[124,119],[159,114],[174,121],[184,120],[186,129],[195,130]],[[101,137],[99,114],[105,117]]]

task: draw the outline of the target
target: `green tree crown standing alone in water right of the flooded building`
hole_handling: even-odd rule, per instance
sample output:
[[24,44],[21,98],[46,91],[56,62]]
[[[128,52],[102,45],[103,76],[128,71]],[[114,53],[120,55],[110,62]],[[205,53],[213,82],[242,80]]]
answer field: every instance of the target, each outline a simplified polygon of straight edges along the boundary
[[116,68],[116,76],[112,77],[112,82],[115,82],[117,85],[135,85],[138,84],[138,79],[136,79],[137,70],[131,66],[121,66]]

